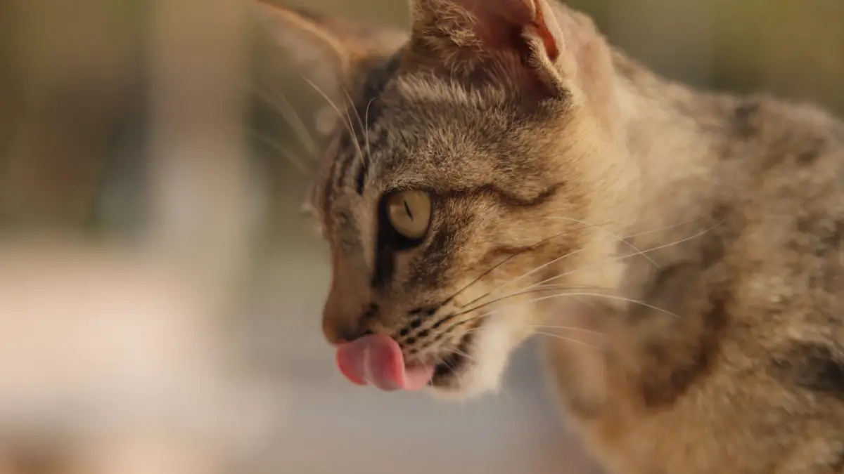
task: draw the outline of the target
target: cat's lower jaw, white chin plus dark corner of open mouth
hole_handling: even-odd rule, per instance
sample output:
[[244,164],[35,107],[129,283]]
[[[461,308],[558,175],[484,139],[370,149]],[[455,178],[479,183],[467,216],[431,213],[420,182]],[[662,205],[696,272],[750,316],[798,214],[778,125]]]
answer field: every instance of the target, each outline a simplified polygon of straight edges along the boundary
[[446,364],[431,380],[430,394],[445,400],[465,400],[499,391],[510,354],[518,344],[514,334],[504,321],[484,324],[474,333],[471,348],[457,358],[460,363]]

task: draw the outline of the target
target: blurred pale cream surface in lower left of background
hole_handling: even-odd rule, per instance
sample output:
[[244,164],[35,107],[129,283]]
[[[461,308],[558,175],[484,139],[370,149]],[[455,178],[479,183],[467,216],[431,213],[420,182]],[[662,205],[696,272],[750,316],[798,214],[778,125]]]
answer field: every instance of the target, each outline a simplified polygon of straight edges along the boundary
[[[284,422],[284,386],[234,370],[205,293],[137,250],[0,243],[0,451],[70,456],[46,474],[211,474],[252,457]],[[30,474],[3,455],[0,473]]]

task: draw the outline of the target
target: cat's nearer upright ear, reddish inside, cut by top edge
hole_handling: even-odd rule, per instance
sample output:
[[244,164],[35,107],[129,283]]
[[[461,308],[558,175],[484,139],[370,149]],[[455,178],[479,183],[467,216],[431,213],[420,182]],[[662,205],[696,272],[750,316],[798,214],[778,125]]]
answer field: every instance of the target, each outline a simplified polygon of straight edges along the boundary
[[544,95],[571,94],[591,22],[547,0],[411,0],[417,57]]

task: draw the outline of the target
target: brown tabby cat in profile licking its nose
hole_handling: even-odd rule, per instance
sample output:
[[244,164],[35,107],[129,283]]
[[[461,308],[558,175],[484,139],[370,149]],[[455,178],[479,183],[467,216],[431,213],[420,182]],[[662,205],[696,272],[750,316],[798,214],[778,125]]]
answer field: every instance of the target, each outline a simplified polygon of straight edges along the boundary
[[841,121],[662,78],[554,0],[410,6],[256,1],[335,114],[310,196],[349,380],[476,396],[544,332],[610,472],[844,472]]

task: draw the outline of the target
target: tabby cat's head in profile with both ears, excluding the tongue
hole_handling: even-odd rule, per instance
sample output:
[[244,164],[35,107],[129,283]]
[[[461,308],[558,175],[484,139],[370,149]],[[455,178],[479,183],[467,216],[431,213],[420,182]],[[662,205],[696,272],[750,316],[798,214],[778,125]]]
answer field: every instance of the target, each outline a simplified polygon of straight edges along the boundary
[[311,191],[327,339],[386,334],[437,391],[495,388],[527,299],[613,278],[589,268],[625,187],[609,47],[546,0],[412,0],[408,33],[261,5],[335,120]]

